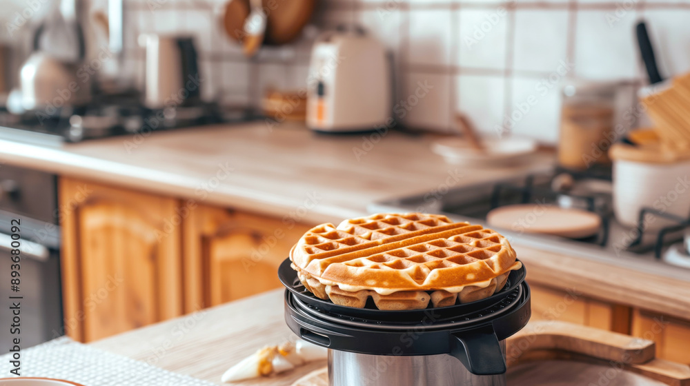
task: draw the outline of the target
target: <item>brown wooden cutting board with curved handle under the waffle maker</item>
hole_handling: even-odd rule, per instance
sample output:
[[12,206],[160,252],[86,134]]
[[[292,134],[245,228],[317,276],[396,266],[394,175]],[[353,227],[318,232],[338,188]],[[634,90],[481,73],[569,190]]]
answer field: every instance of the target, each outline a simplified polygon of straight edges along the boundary
[[[507,341],[511,386],[690,386],[690,367],[654,358],[652,341],[560,321],[529,323]],[[328,386],[322,367],[292,386]]]

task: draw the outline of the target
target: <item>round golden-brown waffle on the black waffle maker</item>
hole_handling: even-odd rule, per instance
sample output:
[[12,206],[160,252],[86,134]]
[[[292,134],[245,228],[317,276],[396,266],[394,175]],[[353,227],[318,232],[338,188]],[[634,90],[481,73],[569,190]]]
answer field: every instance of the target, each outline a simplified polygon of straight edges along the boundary
[[290,251],[299,280],[338,305],[422,309],[467,303],[501,290],[520,269],[493,230],[435,214],[374,214],[322,224]]

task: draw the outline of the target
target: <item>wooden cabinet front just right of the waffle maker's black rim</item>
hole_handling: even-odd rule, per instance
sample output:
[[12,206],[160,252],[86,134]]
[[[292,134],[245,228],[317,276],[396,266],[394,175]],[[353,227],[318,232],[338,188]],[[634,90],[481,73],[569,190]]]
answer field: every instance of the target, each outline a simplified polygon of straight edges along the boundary
[[629,334],[630,308],[615,305],[578,292],[555,290],[530,283],[531,320],[557,320]]

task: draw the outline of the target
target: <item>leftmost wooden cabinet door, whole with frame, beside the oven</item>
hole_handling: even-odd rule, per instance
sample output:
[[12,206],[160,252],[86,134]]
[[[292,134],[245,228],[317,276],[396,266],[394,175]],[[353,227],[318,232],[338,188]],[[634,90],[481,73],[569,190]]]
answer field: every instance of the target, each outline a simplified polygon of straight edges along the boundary
[[62,178],[66,334],[93,341],[183,311],[175,199]]

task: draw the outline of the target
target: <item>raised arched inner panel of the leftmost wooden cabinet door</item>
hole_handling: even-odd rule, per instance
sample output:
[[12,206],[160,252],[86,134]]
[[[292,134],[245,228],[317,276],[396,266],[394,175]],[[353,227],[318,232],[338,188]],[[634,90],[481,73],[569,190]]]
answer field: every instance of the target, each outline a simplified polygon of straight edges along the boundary
[[[85,338],[101,338],[160,320],[156,238],[139,214],[110,203],[79,211]],[[117,317],[126,316],[126,317]]]

